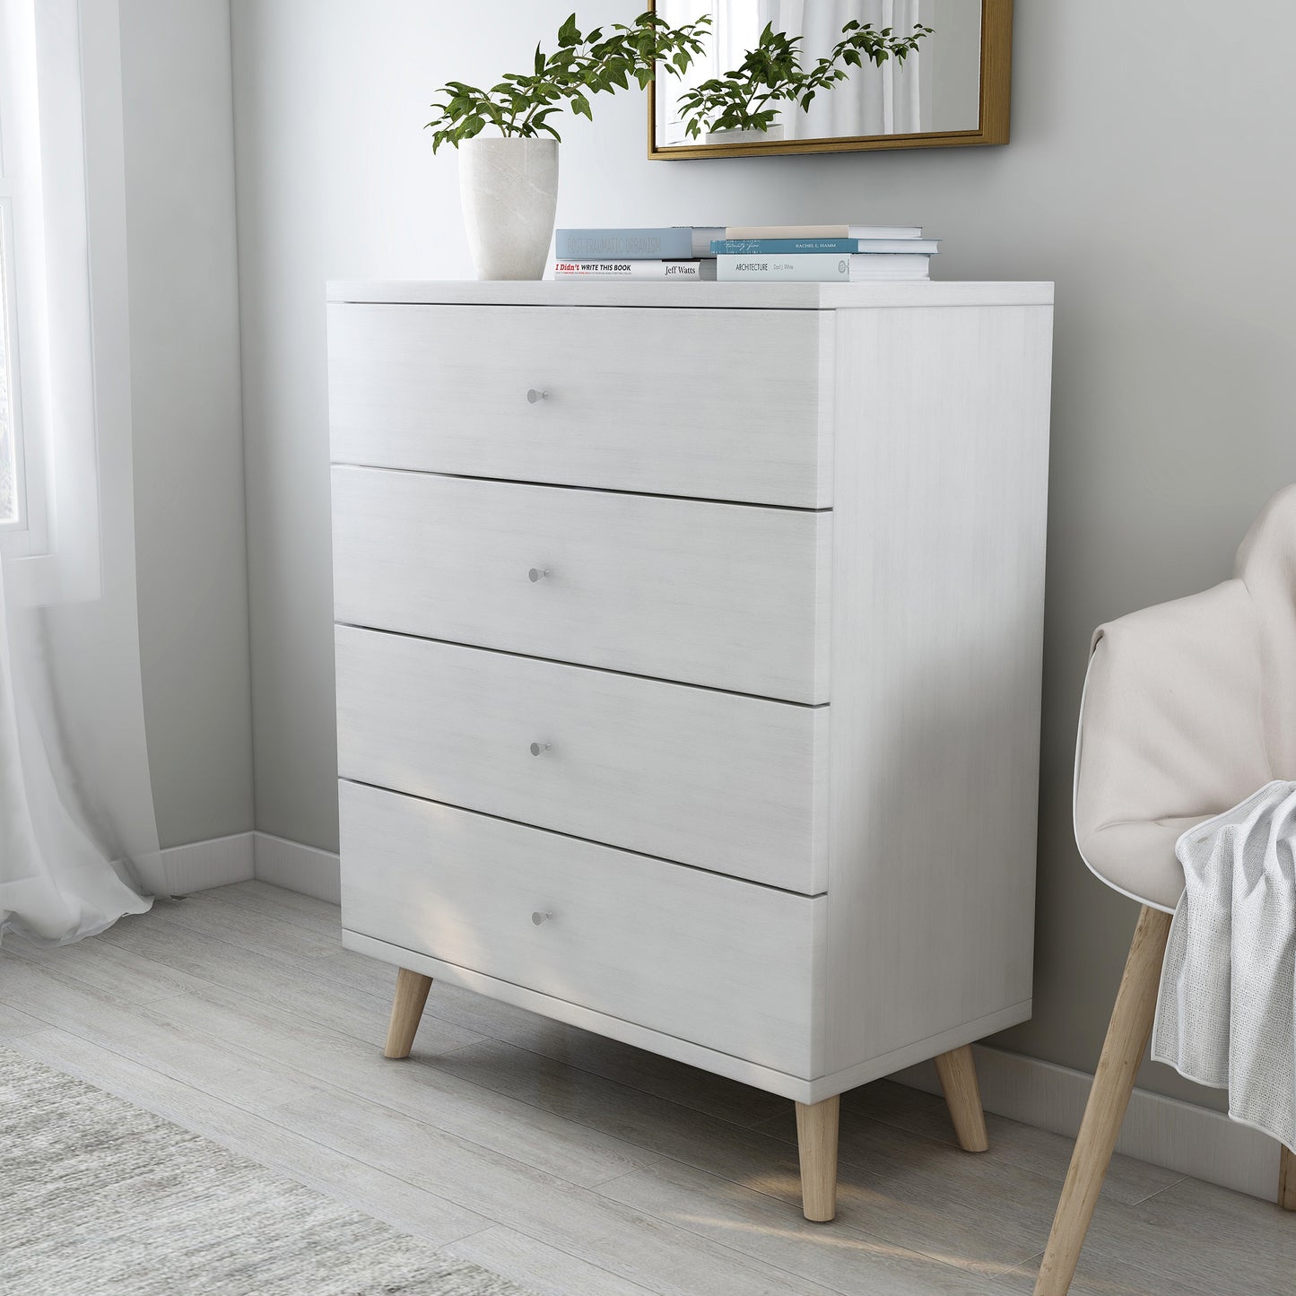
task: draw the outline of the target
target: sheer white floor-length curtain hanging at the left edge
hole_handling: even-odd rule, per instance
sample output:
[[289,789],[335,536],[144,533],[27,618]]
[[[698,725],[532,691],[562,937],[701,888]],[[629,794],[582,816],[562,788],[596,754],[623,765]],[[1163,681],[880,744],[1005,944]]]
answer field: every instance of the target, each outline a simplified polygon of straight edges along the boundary
[[140,688],[115,0],[0,0],[0,932],[165,889]]

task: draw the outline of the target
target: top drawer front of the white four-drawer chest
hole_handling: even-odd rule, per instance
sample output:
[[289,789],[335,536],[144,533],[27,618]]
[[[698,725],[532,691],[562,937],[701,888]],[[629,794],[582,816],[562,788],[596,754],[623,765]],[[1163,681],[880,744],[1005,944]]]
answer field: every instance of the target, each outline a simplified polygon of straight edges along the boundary
[[336,463],[832,503],[832,311],[328,310]]

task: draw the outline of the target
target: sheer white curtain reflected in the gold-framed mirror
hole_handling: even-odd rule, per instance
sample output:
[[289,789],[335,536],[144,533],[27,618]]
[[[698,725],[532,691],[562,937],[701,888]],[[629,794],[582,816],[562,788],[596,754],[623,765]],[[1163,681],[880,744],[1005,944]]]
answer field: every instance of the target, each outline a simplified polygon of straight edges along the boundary
[[[928,0],[929,3],[929,0]],[[759,30],[801,36],[801,61],[809,66],[832,49],[842,25],[851,18],[890,27],[898,36],[914,34],[923,21],[923,0],[757,0]],[[779,117],[789,140],[842,135],[908,135],[920,131],[919,87],[921,52],[903,64],[888,58],[881,67],[850,67],[850,78],[820,93],[809,111],[785,108]]]

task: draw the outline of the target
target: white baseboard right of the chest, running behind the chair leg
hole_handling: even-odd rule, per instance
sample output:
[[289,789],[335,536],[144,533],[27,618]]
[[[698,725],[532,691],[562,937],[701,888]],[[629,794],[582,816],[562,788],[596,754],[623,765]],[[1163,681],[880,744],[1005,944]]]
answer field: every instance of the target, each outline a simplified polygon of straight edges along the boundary
[[[1002,1048],[975,1047],[988,1112],[1076,1137],[1093,1076]],[[941,1091],[931,1063],[892,1078],[929,1094]],[[1278,1198],[1278,1144],[1208,1107],[1135,1089],[1116,1150],[1265,1201]]]

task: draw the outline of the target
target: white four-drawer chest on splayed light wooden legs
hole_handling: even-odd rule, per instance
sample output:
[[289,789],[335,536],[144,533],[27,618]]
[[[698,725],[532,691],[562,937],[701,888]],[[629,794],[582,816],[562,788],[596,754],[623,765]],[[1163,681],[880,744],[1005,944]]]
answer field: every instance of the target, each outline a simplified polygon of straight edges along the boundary
[[1048,284],[340,283],[345,943],[797,1102],[1030,1015]]

